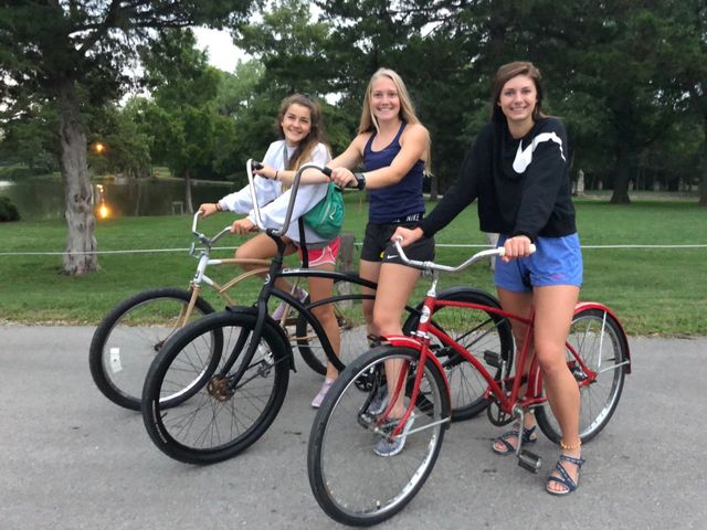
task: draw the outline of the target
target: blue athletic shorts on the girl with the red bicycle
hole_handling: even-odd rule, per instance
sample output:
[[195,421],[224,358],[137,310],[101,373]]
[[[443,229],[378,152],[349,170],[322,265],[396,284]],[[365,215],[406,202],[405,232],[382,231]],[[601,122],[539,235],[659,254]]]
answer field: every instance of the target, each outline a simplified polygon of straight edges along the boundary
[[[507,235],[498,237],[504,246]],[[496,259],[497,287],[513,293],[530,293],[532,287],[582,285],[582,251],[577,233],[562,237],[538,237],[536,252],[508,263]]]

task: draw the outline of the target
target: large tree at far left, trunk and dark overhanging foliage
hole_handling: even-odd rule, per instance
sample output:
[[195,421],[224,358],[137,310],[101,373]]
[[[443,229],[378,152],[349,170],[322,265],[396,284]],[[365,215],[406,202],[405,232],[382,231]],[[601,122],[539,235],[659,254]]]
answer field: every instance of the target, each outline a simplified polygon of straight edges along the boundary
[[169,28],[224,26],[249,0],[43,0],[6,2],[0,11],[1,103],[13,114],[53,102],[59,109],[61,171],[68,235],[64,271],[97,268],[92,190],[82,107],[116,99],[136,46]]

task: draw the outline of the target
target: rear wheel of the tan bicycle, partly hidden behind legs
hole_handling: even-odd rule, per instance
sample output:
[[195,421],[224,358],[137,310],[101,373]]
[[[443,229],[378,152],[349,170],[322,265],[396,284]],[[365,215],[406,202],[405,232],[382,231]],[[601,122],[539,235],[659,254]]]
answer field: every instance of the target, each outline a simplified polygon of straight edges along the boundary
[[[335,289],[337,286],[345,284],[344,280],[337,280],[335,283]],[[348,285],[355,285],[348,283]],[[366,320],[363,319],[363,309],[361,307],[362,298],[376,298],[374,295],[335,295],[342,298],[336,300],[335,315],[337,324],[339,325],[339,359],[344,364],[348,364],[358,356],[363,353],[368,349],[368,342],[366,339]],[[309,298],[305,300],[305,305],[310,304]],[[321,341],[314,332],[306,315],[299,312],[297,315],[297,321],[295,325],[295,344],[299,350],[299,354],[305,363],[315,372],[325,375],[327,373],[327,356],[321,346]]]

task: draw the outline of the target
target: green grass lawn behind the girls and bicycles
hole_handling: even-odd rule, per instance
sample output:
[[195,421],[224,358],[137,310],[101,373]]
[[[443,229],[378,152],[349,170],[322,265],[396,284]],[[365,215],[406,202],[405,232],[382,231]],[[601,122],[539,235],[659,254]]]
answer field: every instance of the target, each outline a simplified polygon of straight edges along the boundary
[[[362,240],[366,205],[361,195],[347,195],[345,231]],[[707,247],[608,248],[602,245],[707,245],[707,209],[696,202],[640,200],[626,205],[604,201],[576,201],[584,257],[581,298],[611,307],[630,335],[707,335]],[[229,224],[229,215],[214,215],[200,226],[213,234]],[[191,218],[123,218],[98,223],[95,236],[101,271],[80,277],[61,273],[65,246],[63,221],[0,223],[0,320],[17,322],[97,324],[120,299],[138,290],[189,284],[196,259],[188,255]],[[221,240],[214,257],[229,257],[242,239]],[[220,244],[221,244],[220,242]],[[485,244],[478,232],[475,206],[468,208],[437,234],[437,262],[461,263],[472,248],[445,244]],[[109,251],[151,251],[126,254]],[[171,250],[160,252],[161,250]],[[19,253],[19,254],[18,254]],[[56,253],[32,255],[22,253]],[[293,265],[296,263],[291,262]],[[233,267],[212,267],[209,275],[223,282]],[[419,283],[420,299],[429,283]],[[442,287],[473,285],[493,290],[487,266],[446,276]],[[251,304],[257,280],[239,287],[236,299]],[[217,298],[207,295],[217,307]]]

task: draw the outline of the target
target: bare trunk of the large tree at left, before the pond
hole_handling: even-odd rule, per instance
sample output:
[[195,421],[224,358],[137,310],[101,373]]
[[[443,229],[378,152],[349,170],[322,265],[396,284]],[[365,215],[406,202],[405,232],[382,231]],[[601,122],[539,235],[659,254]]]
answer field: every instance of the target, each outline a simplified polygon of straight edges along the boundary
[[86,135],[73,82],[64,80],[59,94],[61,166],[66,203],[64,216],[68,227],[64,272],[85,274],[98,268],[96,240],[93,235],[96,218],[93,214],[93,193],[88,180]]

